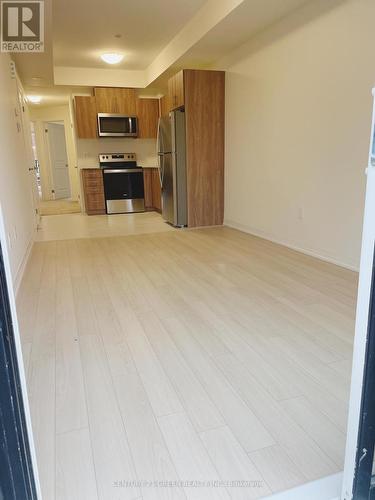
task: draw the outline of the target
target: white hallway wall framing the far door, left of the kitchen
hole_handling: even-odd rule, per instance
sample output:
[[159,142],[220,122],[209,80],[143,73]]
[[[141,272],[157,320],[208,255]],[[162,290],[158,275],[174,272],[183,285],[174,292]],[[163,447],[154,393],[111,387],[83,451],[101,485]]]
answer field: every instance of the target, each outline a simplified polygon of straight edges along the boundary
[[48,147],[45,138],[44,123],[47,121],[63,121],[65,127],[66,150],[68,154],[69,179],[71,187],[71,197],[73,200],[79,198],[79,178],[77,170],[77,152],[73,132],[73,122],[69,103],[61,106],[32,106],[30,107],[30,119],[35,123],[35,138],[38,150],[38,160],[41,169],[41,184],[43,200],[51,200],[52,196],[52,174]]

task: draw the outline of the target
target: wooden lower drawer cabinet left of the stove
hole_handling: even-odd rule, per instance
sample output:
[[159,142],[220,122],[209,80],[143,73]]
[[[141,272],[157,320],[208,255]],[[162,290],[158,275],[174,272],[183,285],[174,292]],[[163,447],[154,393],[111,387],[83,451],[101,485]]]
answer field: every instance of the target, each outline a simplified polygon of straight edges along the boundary
[[82,185],[87,215],[106,213],[103,172],[100,168],[82,169]]

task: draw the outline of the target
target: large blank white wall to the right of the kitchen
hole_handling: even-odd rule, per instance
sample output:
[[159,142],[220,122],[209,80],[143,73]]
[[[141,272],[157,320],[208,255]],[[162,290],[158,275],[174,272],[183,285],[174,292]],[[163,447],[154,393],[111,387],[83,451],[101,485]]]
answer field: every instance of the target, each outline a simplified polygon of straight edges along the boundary
[[220,62],[226,223],[358,267],[374,19],[373,0],[316,0]]

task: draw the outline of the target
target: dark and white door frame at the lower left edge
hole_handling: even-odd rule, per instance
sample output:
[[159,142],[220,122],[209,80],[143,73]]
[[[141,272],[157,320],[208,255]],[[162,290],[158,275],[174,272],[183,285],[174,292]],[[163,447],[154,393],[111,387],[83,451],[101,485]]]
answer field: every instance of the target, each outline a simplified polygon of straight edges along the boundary
[[[21,338],[11,276],[6,232],[0,204],[0,428],[1,445],[5,430],[8,444],[8,475],[0,475],[1,486],[13,493],[13,500],[41,500],[35,443],[27,395]],[[1,334],[2,332],[0,332]],[[5,376],[3,376],[5,374]],[[4,474],[4,475],[3,475]],[[11,477],[13,476],[13,481]],[[14,484],[14,483],[17,484]],[[13,483],[13,485],[12,485]]]

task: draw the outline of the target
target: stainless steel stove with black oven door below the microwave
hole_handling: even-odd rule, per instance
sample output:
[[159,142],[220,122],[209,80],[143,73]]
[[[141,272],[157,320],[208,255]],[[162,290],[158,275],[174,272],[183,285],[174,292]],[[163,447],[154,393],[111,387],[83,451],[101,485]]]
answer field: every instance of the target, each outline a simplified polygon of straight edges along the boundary
[[144,212],[143,169],[134,153],[99,155],[108,214]]

